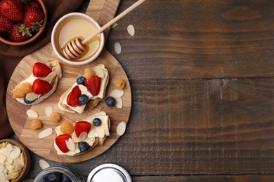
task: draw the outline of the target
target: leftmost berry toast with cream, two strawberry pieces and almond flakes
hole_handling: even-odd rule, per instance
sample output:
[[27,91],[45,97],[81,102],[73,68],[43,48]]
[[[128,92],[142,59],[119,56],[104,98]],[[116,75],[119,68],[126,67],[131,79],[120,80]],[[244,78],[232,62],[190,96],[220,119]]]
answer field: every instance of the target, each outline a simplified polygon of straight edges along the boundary
[[46,64],[36,62],[32,74],[11,90],[11,97],[22,104],[38,104],[53,94],[60,78],[62,70],[57,60]]

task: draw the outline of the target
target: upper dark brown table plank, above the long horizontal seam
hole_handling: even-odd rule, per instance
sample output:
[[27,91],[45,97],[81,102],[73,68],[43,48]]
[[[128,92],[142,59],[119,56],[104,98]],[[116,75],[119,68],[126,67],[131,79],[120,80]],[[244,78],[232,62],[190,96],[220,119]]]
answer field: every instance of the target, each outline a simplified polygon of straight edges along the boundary
[[129,79],[273,77],[273,8],[269,0],[145,1],[112,29],[107,50]]

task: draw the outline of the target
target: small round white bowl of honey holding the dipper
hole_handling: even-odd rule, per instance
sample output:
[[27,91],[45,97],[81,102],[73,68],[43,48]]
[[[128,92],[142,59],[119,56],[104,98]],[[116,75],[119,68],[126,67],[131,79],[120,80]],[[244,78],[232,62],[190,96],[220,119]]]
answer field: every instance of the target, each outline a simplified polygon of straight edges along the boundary
[[[69,26],[73,27],[73,29],[67,28]],[[93,43],[89,44],[89,52],[87,52],[86,55],[79,60],[69,60],[65,58],[61,50],[62,46],[64,46],[69,39],[72,39],[75,36],[86,38],[87,36],[91,35],[93,31],[96,31],[96,29],[100,29],[100,25],[89,15],[84,13],[69,13],[64,15],[62,18],[60,18],[60,20],[58,20],[58,22],[56,22],[56,25],[53,27],[51,34],[51,44],[53,51],[56,53],[59,59],[67,64],[84,65],[93,62],[93,60],[96,59],[98,55],[100,55],[100,52],[103,50],[105,43],[105,36],[103,32],[99,34],[100,38],[98,38],[98,41],[94,42],[96,43],[95,45]],[[63,38],[60,38],[61,36]],[[91,46],[91,44],[93,44],[93,46]]]

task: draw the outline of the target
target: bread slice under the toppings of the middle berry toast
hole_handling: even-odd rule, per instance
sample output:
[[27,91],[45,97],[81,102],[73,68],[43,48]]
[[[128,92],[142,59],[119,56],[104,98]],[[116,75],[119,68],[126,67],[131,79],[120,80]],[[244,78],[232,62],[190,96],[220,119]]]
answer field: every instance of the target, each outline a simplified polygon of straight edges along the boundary
[[[100,67],[102,69],[105,69],[105,65],[103,64],[99,64],[98,66],[96,66],[97,68]],[[95,67],[95,68],[96,68]],[[107,69],[105,69],[105,71],[107,71]],[[101,78],[102,79],[102,78]],[[76,80],[76,79],[75,79]],[[103,97],[105,97],[105,90],[107,89],[107,84],[108,84],[108,81],[109,81],[109,76],[108,76],[108,71],[107,71],[107,75],[106,75],[106,81],[105,81],[105,85],[104,87],[101,89],[103,89]],[[103,84],[103,83],[101,83]],[[77,113],[77,111],[74,111],[70,106],[68,106],[67,104],[64,104],[64,100],[67,99],[67,95],[70,94],[72,90],[72,87],[70,87],[67,91],[65,91],[61,96],[60,96],[60,99],[59,99],[59,102],[58,102],[58,108],[61,110],[61,111],[66,111],[68,113]],[[87,111],[87,110],[91,110],[93,109],[95,106],[97,106],[97,104],[102,101],[102,98],[100,97],[97,97],[96,99],[89,99],[89,102],[88,104],[86,104],[84,106],[84,111]]]

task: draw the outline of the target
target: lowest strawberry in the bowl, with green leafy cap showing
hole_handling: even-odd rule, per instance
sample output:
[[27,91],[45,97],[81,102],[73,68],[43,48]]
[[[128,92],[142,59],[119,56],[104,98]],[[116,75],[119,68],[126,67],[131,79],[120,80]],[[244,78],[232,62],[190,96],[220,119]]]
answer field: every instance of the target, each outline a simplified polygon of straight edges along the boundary
[[30,34],[30,29],[21,23],[15,24],[13,29],[11,29],[11,40],[15,42],[26,41],[29,36],[32,36],[32,34]]

